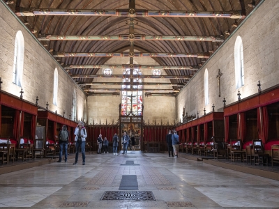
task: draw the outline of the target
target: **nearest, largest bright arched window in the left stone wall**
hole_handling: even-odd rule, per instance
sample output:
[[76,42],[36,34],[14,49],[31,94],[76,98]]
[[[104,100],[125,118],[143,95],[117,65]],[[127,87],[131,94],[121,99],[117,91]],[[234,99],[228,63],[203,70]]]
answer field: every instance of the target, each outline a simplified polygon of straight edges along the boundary
[[22,87],[24,60],[24,38],[22,31],[17,31],[15,36],[15,54],[13,58],[13,83]]

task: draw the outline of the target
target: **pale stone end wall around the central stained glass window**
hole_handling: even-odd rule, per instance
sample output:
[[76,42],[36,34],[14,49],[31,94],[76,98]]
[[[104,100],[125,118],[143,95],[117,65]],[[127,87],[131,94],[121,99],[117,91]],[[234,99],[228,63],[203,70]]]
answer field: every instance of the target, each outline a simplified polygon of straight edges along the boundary
[[[126,57],[112,57],[109,59],[105,65],[116,65],[116,64],[128,64],[129,58]],[[150,57],[135,57],[135,64],[141,65],[159,65],[156,61]],[[102,75],[104,69],[100,69],[97,74]],[[112,69],[112,74],[122,75],[123,70],[121,69]],[[142,70],[142,75],[152,75],[152,70]],[[167,75],[165,71],[162,72],[162,75]],[[96,78],[93,82],[112,82],[110,78]],[[114,78],[113,82],[122,82],[121,78]],[[143,82],[165,82],[169,83],[169,79],[144,79]],[[104,88],[105,86],[93,85],[91,88]],[[112,88],[121,88],[121,86],[114,86]],[[172,86],[144,86],[144,88],[169,88],[172,89]],[[166,96],[149,96],[148,98],[144,96],[143,92],[143,104],[144,104],[144,121],[148,123],[174,123],[175,119],[175,98],[166,97]],[[120,96],[89,96],[88,97],[88,118],[89,123],[114,123],[119,119],[119,104],[121,103],[121,94]]]

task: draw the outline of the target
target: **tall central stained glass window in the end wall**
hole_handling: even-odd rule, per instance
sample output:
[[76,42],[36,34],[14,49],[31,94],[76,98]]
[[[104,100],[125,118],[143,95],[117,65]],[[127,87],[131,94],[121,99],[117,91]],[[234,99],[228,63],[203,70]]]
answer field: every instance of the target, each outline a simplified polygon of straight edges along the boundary
[[[123,75],[130,75],[130,69],[126,69]],[[133,75],[142,75],[138,69],[133,70]],[[122,82],[130,82],[130,78],[123,78]],[[141,78],[134,78],[134,83],[142,83]],[[130,89],[130,85],[122,85],[122,89]],[[142,89],[142,85],[133,85],[133,89]],[[142,91],[122,91],[121,115],[142,115]]]

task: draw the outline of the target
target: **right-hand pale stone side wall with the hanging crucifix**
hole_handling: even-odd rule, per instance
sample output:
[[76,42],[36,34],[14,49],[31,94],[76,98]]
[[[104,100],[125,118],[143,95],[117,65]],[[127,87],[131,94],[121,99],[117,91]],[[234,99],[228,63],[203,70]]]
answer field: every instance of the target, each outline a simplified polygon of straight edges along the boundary
[[[212,111],[212,104],[223,111],[223,98],[227,104],[257,93],[258,81],[262,90],[279,83],[279,2],[264,1],[218,52],[202,66],[176,97],[176,120],[182,118],[183,107],[190,114],[197,111]],[[237,36],[243,41],[244,85],[236,89],[234,75],[234,44]],[[204,104],[204,71],[209,71],[209,104]],[[218,97],[216,76],[218,69],[223,73],[220,79],[221,97]]]

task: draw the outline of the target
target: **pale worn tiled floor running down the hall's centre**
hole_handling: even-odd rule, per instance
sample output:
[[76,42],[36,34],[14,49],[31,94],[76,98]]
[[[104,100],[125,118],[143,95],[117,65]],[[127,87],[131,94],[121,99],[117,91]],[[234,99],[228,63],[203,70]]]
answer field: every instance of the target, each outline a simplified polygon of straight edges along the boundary
[[[140,165],[120,166],[127,160]],[[156,201],[101,201],[105,191],[118,191],[122,175],[137,175],[139,191]],[[276,180],[167,154],[86,155],[85,166],[68,160],[0,179],[6,208],[279,208]]]

